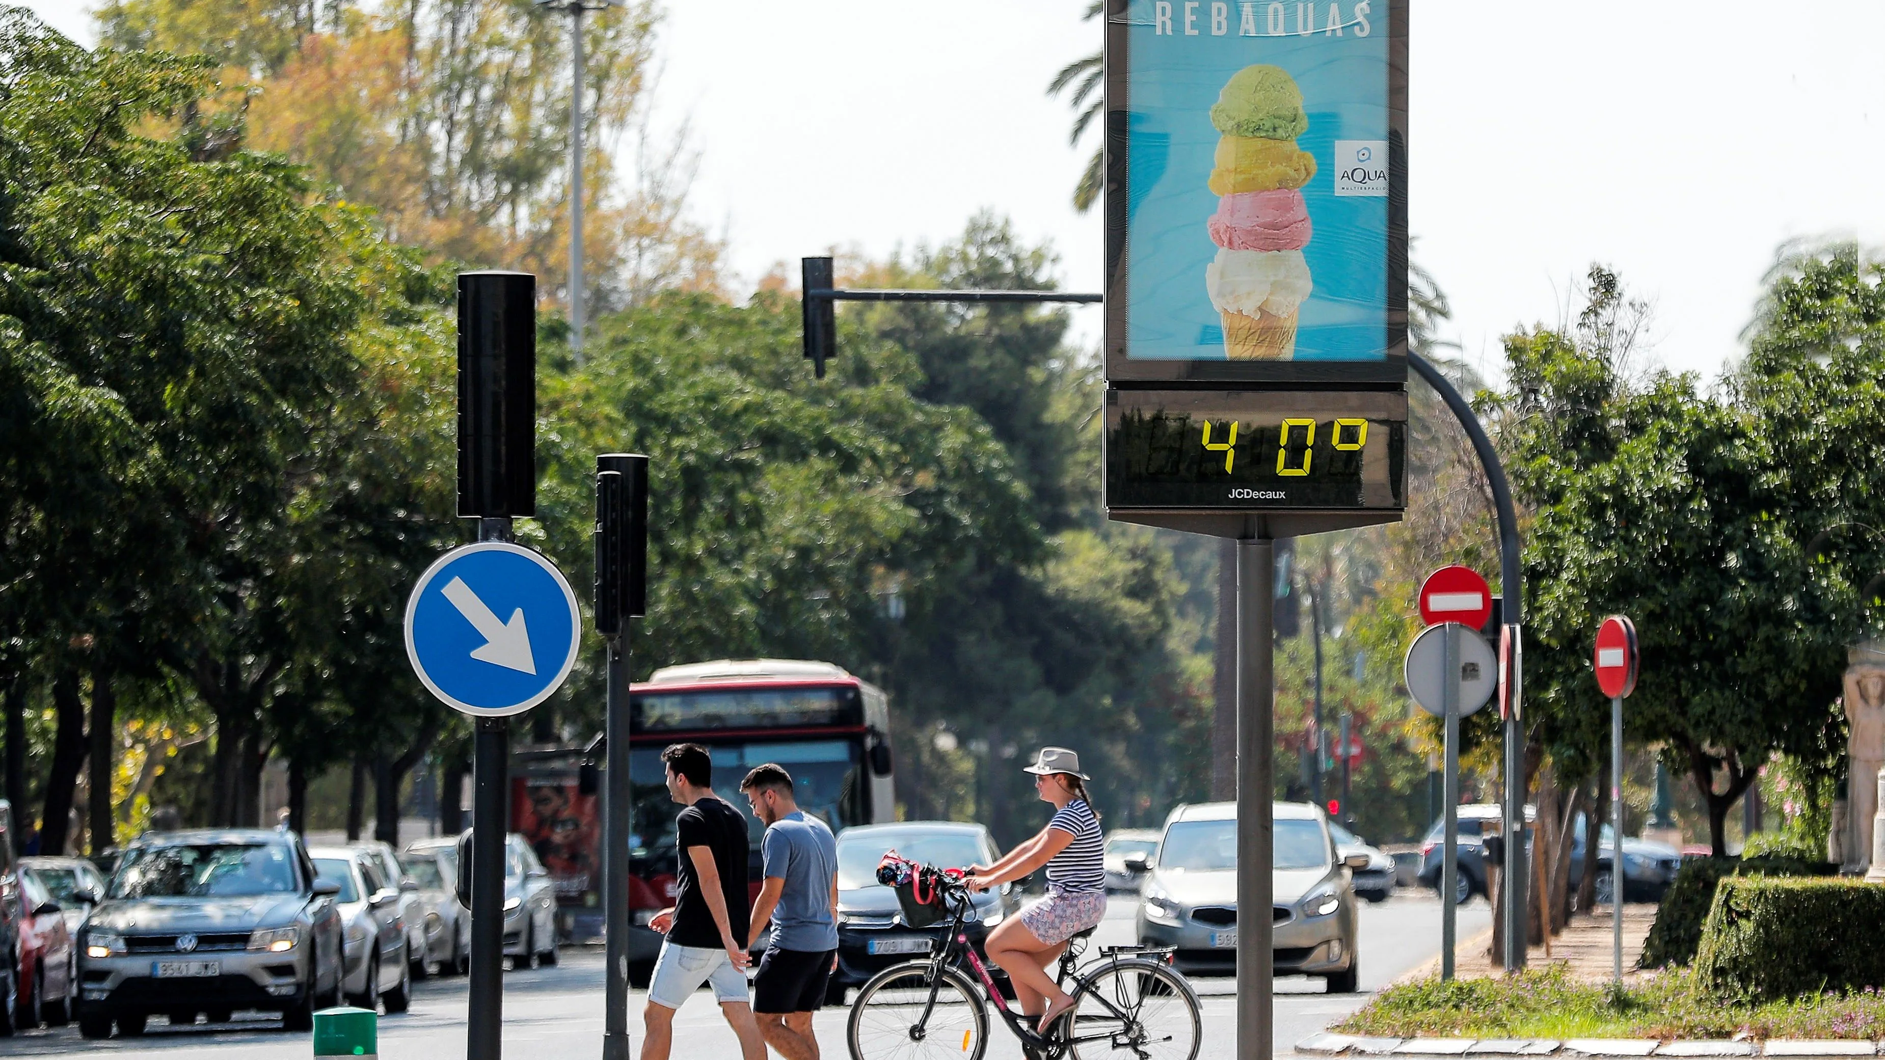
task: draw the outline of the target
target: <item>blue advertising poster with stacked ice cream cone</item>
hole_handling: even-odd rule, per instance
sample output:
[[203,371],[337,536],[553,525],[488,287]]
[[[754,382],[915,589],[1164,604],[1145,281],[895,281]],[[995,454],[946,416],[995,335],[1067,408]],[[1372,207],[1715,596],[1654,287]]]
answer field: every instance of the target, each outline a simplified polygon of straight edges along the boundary
[[1404,0],[1108,0],[1108,381],[1406,381]]

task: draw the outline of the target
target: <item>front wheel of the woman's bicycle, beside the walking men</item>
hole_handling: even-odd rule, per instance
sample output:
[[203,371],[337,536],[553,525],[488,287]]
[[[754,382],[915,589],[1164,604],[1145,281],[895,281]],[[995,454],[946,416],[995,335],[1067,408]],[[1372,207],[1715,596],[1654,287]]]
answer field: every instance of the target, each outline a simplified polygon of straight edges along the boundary
[[961,971],[909,960],[858,988],[846,1041],[850,1060],[982,1060],[988,1011]]

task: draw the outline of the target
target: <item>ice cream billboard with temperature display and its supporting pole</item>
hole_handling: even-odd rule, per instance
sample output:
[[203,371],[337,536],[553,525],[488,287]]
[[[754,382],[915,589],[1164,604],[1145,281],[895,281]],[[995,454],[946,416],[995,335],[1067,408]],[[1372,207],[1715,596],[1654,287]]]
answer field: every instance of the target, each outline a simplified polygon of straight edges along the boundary
[[1106,515],[1237,539],[1237,1056],[1267,1060],[1272,541],[1406,509],[1408,11],[1105,8]]

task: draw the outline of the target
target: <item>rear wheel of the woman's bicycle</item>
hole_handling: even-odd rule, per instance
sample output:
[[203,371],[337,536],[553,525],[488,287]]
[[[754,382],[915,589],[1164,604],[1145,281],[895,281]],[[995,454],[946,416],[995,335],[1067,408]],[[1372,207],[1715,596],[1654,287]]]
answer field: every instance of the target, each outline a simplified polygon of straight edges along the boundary
[[1197,994],[1156,960],[1129,958],[1080,975],[1073,1022],[1061,1022],[1080,1060],[1197,1060],[1205,1037]]

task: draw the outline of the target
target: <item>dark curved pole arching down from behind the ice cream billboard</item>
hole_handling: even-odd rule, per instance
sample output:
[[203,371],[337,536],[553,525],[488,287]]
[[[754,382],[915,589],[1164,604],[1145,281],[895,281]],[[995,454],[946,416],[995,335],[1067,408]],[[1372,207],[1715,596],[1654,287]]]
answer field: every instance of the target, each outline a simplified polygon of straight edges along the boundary
[[1504,879],[1504,930],[1506,930],[1506,971],[1517,971],[1525,968],[1525,719],[1521,713],[1521,688],[1523,688],[1523,638],[1521,624],[1525,617],[1525,571],[1519,556],[1519,519],[1517,511],[1512,507],[1512,487],[1506,483],[1506,470],[1499,462],[1499,453],[1493,449],[1493,439],[1485,436],[1485,428],[1480,426],[1480,417],[1474,415],[1472,406],[1467,398],[1433,366],[1425,356],[1418,353],[1408,353],[1408,368],[1414,370],[1436,394],[1446,402],[1446,407],[1453,411],[1459,419],[1459,426],[1465,428],[1467,438],[1472,439],[1472,451],[1480,456],[1480,464],[1485,468],[1485,483],[1493,489],[1493,511],[1499,515],[1499,581],[1500,592],[1504,596],[1504,622],[1512,630],[1512,688],[1510,702],[1512,713],[1506,717],[1504,732],[1504,832],[1506,832],[1506,871]]

